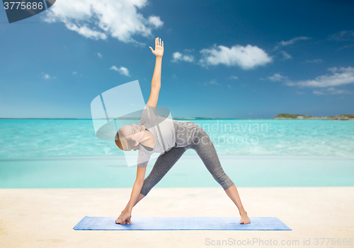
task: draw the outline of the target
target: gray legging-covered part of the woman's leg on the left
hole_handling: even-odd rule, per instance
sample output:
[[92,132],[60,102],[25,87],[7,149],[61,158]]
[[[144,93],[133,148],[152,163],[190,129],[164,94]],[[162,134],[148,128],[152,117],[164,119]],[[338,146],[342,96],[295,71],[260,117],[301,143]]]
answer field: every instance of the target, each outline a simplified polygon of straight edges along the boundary
[[[166,175],[167,172],[171,169],[171,167],[176,164],[176,162],[181,158],[183,153],[185,153],[186,148],[171,148],[171,150],[167,151],[159,155],[157,158],[152,171],[149,173],[147,178],[144,179],[144,184],[142,185],[142,190],[140,191],[140,195],[138,196],[137,202],[141,200],[144,196],[146,196],[149,191]],[[141,196],[143,195],[143,196]],[[135,203],[136,204],[136,203]]]

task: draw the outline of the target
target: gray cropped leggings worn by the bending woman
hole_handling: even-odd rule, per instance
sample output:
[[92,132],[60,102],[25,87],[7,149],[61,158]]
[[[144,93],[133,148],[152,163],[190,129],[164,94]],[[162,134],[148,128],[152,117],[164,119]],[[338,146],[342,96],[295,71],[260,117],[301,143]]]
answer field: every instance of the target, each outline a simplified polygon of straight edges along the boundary
[[217,151],[210,137],[201,129],[198,136],[193,138],[193,142],[189,146],[173,147],[166,153],[159,155],[152,171],[144,179],[140,193],[146,196],[188,149],[193,149],[197,152],[207,170],[209,170],[212,177],[214,177],[224,190],[234,185],[234,182],[222,170],[219,158],[217,157]]

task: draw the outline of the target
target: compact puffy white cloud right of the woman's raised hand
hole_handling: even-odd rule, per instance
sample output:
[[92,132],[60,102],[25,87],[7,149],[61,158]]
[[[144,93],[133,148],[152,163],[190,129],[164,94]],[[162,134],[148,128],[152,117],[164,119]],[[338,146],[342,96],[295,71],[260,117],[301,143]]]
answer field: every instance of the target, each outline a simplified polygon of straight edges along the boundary
[[215,66],[224,64],[227,66],[240,66],[242,69],[253,69],[256,66],[264,66],[273,61],[263,49],[246,45],[234,45],[231,48],[223,45],[214,45],[210,49],[202,49],[200,51],[202,59],[201,66]]

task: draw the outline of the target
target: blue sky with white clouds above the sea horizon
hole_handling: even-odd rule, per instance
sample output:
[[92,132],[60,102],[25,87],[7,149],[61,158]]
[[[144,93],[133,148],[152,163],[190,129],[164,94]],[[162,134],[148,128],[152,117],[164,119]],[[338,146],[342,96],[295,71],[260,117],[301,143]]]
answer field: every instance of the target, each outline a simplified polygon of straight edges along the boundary
[[[138,80],[172,117],[354,114],[354,1],[57,0],[8,23],[0,9],[0,118],[91,118]],[[119,98],[119,96],[118,96]],[[122,106],[127,104],[122,102]]]

